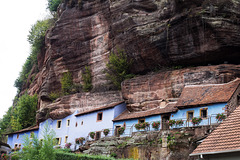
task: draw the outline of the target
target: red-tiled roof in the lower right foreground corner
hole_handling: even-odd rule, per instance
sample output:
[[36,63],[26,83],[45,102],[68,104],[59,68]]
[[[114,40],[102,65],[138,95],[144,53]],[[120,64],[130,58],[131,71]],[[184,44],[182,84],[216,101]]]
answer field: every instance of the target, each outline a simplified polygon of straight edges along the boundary
[[240,151],[240,106],[190,156]]

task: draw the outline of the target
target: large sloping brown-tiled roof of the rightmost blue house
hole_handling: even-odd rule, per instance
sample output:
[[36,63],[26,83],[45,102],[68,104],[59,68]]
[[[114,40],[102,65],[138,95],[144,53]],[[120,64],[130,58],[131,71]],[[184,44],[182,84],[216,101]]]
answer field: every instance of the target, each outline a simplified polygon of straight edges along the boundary
[[240,78],[224,84],[191,85],[183,88],[178,108],[228,102],[236,91]]

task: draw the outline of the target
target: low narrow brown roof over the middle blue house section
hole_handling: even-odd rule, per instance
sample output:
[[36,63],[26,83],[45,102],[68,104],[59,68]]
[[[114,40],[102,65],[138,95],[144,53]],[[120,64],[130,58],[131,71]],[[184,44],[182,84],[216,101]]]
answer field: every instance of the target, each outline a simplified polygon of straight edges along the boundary
[[177,111],[176,103],[168,103],[165,108],[154,108],[151,110],[139,111],[139,112],[129,112],[128,110],[125,110],[123,113],[117,116],[113,121],[136,119],[141,117],[148,117],[151,115],[172,113],[176,111]]

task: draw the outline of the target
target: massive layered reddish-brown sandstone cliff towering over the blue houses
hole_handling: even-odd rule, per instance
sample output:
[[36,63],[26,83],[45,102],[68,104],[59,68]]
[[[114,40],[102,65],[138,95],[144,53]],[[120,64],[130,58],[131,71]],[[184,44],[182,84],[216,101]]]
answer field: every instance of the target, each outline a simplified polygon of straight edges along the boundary
[[[148,109],[178,97],[184,85],[239,77],[239,65],[204,66],[239,64],[239,8],[238,0],[65,0],[38,56],[39,73],[27,85],[30,94],[39,94],[39,120],[46,108],[57,118],[85,104],[90,109],[122,99],[132,110]],[[133,60],[131,72],[143,75],[123,83],[123,97],[103,72],[117,47]],[[48,95],[60,90],[62,74],[70,71],[81,83],[85,66],[91,68],[93,90],[51,104]],[[166,69],[173,66],[199,67]],[[161,71],[149,74],[153,70]],[[77,105],[96,94],[98,103]]]

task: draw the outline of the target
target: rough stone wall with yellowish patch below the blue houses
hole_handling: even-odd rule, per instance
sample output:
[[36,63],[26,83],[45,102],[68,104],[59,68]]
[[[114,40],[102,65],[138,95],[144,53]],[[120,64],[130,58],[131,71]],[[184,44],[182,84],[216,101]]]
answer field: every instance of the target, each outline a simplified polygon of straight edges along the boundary
[[105,137],[91,144],[84,153],[115,153],[118,158],[138,160],[194,160],[189,154],[196,148],[196,141],[206,137],[215,127],[136,132],[132,137]]

